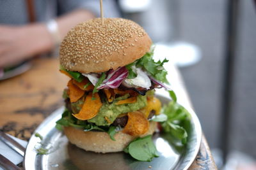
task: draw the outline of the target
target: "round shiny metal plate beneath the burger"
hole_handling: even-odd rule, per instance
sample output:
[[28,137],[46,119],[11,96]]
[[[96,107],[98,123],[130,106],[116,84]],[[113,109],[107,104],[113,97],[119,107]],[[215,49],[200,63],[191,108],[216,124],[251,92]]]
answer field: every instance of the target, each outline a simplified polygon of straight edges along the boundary
[[[163,96],[157,97],[162,103],[170,101]],[[156,133],[153,138],[160,157],[154,158],[152,162],[136,161],[123,152],[93,153],[71,145],[63,132],[55,129],[55,122],[61,118],[63,109],[54,111],[31,136],[24,156],[26,169],[188,169],[200,148],[200,122],[189,108],[187,110],[191,113],[191,125],[188,145],[185,148],[175,146],[170,136]],[[51,148],[48,155],[36,155],[35,147],[40,145],[40,139],[35,137],[36,132],[44,137],[42,146]]]

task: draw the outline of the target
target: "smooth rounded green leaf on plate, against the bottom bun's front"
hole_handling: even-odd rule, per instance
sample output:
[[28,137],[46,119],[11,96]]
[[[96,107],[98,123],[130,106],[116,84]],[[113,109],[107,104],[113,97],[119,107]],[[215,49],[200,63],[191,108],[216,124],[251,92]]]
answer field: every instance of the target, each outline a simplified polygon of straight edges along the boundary
[[152,135],[136,138],[125,149],[134,159],[150,162],[154,157],[159,157],[156,146],[152,141]]

